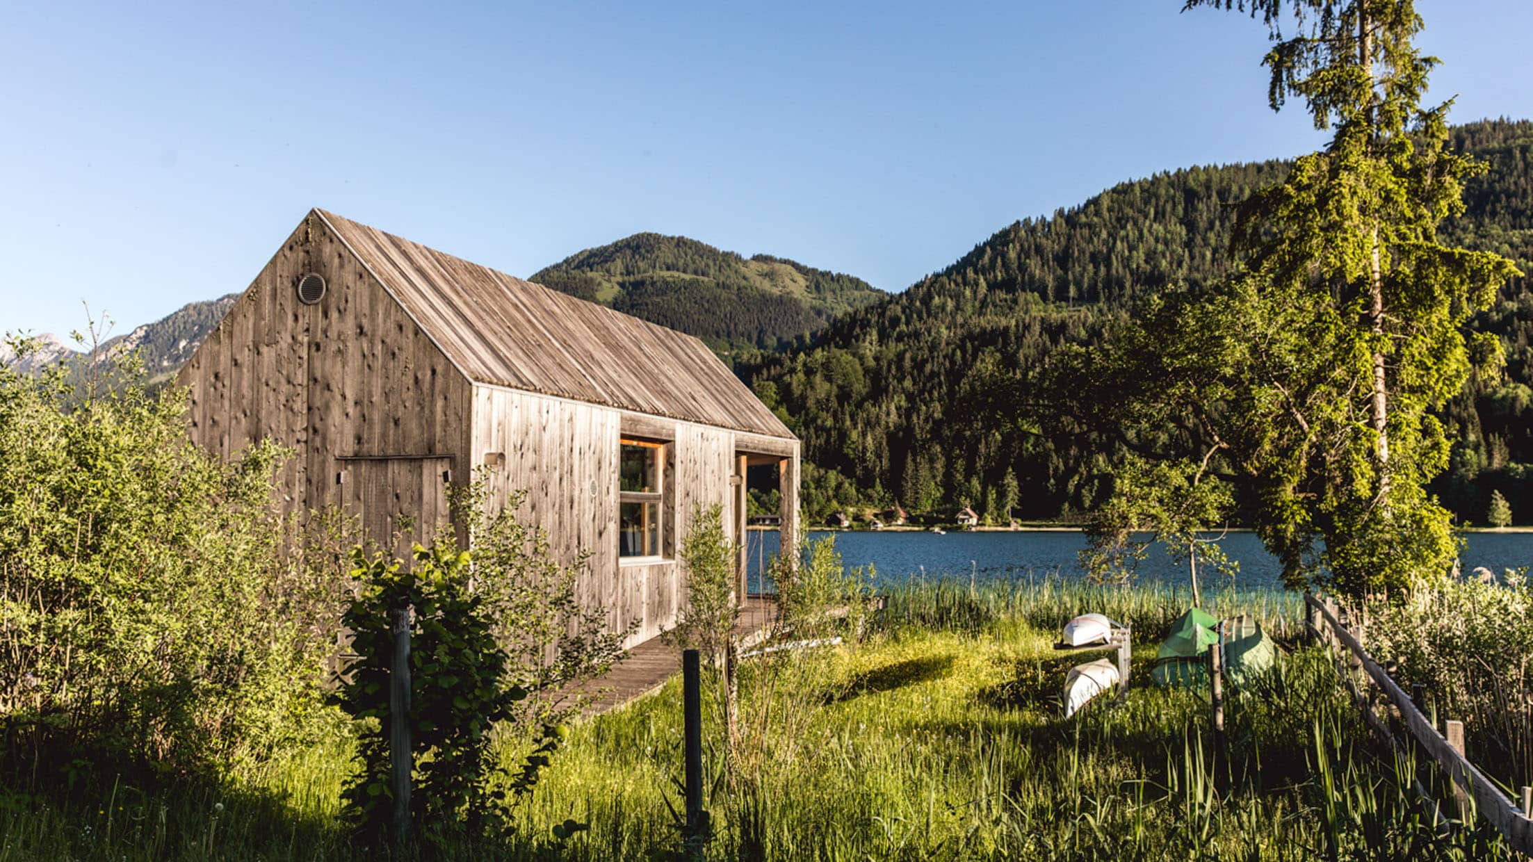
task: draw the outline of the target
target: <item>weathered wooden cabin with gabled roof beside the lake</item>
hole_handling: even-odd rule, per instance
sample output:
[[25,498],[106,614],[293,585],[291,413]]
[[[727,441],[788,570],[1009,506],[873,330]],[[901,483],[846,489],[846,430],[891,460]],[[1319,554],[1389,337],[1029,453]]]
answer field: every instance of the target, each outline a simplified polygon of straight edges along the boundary
[[[745,598],[745,474],[776,465],[782,535],[799,511],[799,440],[701,341],[311,210],[179,382],[202,446],[294,452],[279,506],[354,512],[396,552],[449,523],[448,488],[483,469],[491,503],[575,564],[587,606],[632,643],[675,624],[676,548],[719,505]],[[461,529],[461,525],[455,525]]]

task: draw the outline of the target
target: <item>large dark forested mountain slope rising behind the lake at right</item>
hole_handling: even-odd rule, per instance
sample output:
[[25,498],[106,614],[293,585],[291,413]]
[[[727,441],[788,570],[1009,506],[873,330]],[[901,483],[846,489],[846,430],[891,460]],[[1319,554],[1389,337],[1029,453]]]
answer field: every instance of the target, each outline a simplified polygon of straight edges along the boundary
[[[1533,273],[1533,124],[1473,123],[1453,143],[1490,170],[1469,184],[1449,239]],[[1223,275],[1236,204],[1286,170],[1283,161],[1193,167],[1114,186],[1012,224],[904,293],[837,319],[812,347],[747,370],[820,468],[806,471],[811,515],[863,500],[915,511],[967,503],[996,518],[1009,497],[1036,518],[1096,505],[1113,442],[1062,419],[1015,422],[1016,403],[1038,396],[1029,373],[1064,342],[1099,339],[1136,301]],[[1527,285],[1508,285],[1475,321],[1502,336],[1507,380],[1472,380],[1444,406],[1458,445],[1439,492],[1470,520],[1482,520],[1490,488],[1533,515]]]

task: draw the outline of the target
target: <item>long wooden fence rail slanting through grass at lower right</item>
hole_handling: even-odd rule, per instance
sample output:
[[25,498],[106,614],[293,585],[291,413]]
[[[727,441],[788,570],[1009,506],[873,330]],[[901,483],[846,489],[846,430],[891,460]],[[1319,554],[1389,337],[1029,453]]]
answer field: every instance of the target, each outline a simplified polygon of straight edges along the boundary
[[[1479,813],[1490,821],[1490,824],[1496,827],[1502,836],[1505,836],[1507,844],[1518,853],[1533,856],[1533,819],[1528,819],[1527,808],[1518,807],[1512,799],[1501,793],[1489,776],[1479,772],[1475,764],[1469,762],[1461,752],[1455,750],[1453,745],[1450,745],[1449,741],[1438,733],[1436,727],[1433,727],[1432,722],[1421,715],[1421,710],[1416,709],[1416,704],[1410,699],[1410,696],[1406,695],[1406,692],[1389,676],[1389,673],[1367,655],[1363,644],[1352,637],[1352,632],[1337,621],[1326,603],[1306,594],[1305,604],[1308,604],[1315,612],[1315,617],[1326,624],[1334,643],[1340,643],[1351,652],[1349,658],[1354,663],[1354,667],[1360,667],[1366,672],[1384,696],[1389,698],[1389,702],[1393,704],[1395,710],[1398,710],[1401,721],[1406,729],[1410,730],[1410,735],[1416,739],[1416,742],[1420,742],[1421,747],[1432,755],[1432,759],[1443,767],[1443,772],[1453,779],[1453,784],[1456,784],[1464,793],[1473,796]],[[1321,630],[1317,630],[1317,633],[1325,635]]]

